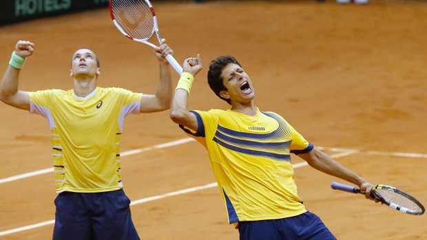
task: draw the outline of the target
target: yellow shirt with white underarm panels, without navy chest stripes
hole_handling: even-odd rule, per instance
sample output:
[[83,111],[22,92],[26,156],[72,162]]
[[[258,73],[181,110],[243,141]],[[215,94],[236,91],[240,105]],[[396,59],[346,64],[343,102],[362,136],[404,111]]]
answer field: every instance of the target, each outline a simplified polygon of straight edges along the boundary
[[73,90],[30,92],[30,113],[48,119],[56,192],[99,193],[123,188],[123,119],[140,112],[142,94],[97,87],[86,98]]

